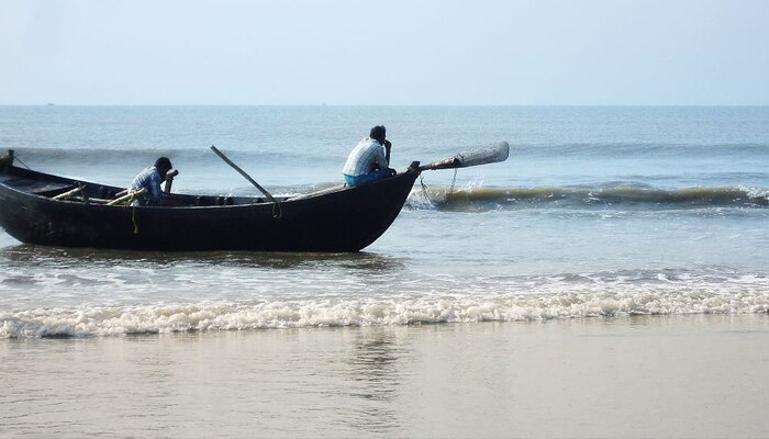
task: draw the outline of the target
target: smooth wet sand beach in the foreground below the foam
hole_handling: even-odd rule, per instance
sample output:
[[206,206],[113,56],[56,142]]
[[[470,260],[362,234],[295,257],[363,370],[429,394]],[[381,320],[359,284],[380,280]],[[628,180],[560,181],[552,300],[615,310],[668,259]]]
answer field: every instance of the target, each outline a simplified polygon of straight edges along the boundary
[[767,437],[769,315],[0,340],[0,437]]

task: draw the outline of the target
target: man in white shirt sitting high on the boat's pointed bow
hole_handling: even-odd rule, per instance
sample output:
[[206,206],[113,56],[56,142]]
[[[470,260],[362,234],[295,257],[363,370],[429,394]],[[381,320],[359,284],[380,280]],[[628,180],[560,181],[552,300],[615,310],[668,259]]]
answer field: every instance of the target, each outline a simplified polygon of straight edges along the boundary
[[377,125],[368,137],[353,148],[342,170],[347,185],[370,183],[395,173],[394,169],[389,168],[392,144],[386,137],[384,126]]

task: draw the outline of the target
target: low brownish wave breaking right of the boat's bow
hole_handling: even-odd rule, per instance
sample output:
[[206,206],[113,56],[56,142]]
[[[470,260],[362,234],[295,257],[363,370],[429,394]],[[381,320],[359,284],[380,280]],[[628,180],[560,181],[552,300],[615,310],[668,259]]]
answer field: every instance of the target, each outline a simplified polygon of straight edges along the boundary
[[769,189],[736,187],[696,187],[658,189],[648,185],[486,188],[469,184],[415,187],[409,209],[472,210],[559,206],[646,206],[646,207],[768,207]]

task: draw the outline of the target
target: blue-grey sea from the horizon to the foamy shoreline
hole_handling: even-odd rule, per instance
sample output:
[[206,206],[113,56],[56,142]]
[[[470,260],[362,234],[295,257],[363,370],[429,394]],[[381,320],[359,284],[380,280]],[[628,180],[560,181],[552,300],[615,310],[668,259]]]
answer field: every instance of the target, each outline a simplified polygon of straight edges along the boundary
[[370,121],[390,126],[395,167],[497,139],[511,158],[424,172],[359,255],[56,249],[0,233],[0,336],[767,309],[766,108],[0,108],[0,147],[118,185],[167,154],[176,190],[254,193],[216,143],[297,193],[337,184]]

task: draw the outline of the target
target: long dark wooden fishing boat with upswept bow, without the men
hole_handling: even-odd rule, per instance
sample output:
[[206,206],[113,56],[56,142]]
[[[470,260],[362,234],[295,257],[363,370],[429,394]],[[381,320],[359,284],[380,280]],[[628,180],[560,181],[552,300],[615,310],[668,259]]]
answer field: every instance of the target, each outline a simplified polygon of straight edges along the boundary
[[164,251],[358,251],[390,227],[421,171],[465,166],[414,162],[372,183],[298,196],[169,194],[164,206],[130,206],[109,204],[123,188],[20,168],[9,153],[0,161],[0,227],[14,238]]

